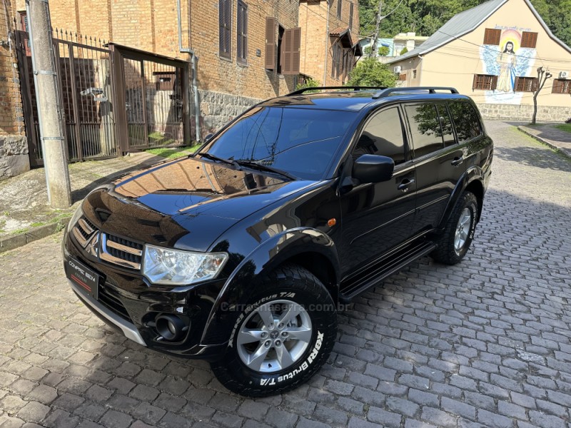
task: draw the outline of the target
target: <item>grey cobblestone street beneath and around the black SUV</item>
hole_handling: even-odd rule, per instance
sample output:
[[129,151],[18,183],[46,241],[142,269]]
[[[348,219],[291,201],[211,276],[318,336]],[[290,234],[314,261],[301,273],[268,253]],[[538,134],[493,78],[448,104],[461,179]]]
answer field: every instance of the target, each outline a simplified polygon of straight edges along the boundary
[[338,315],[310,384],[229,393],[206,362],[82,305],[61,233],[0,254],[0,427],[569,427],[571,161],[503,122],[472,250],[423,258]]

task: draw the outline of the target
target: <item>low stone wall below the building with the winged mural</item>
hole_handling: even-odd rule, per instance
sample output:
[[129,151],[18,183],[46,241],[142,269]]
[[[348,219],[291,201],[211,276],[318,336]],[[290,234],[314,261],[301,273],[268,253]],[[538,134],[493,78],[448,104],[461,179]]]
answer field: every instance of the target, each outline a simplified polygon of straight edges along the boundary
[[[486,119],[501,119],[505,121],[530,122],[533,115],[533,106],[517,104],[478,104],[480,113]],[[562,122],[571,117],[569,107],[537,106],[538,122]]]

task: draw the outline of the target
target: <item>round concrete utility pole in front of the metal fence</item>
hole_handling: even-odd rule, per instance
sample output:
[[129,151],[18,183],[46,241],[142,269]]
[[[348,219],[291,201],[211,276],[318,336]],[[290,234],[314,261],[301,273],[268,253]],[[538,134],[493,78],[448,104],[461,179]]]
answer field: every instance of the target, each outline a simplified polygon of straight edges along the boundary
[[68,208],[71,205],[71,186],[66,141],[61,127],[63,115],[58,96],[48,0],[26,0],[26,13],[48,201],[53,208]]

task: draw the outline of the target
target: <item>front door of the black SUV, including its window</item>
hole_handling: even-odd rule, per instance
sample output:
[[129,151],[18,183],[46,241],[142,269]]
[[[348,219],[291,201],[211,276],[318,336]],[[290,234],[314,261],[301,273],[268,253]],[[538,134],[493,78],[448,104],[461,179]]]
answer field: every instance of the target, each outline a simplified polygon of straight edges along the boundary
[[415,215],[415,168],[408,156],[398,106],[384,108],[368,118],[353,159],[363,154],[393,158],[395,171],[382,183],[355,185],[341,195],[343,272],[350,272],[410,238]]

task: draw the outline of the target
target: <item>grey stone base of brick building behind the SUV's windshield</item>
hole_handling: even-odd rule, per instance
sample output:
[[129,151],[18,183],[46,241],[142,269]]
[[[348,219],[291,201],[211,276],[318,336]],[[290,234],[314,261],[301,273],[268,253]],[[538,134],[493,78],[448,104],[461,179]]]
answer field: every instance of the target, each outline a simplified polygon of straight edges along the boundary
[[243,111],[261,102],[258,98],[231,95],[215,91],[198,91],[201,106],[201,129],[203,137],[214,133]]

